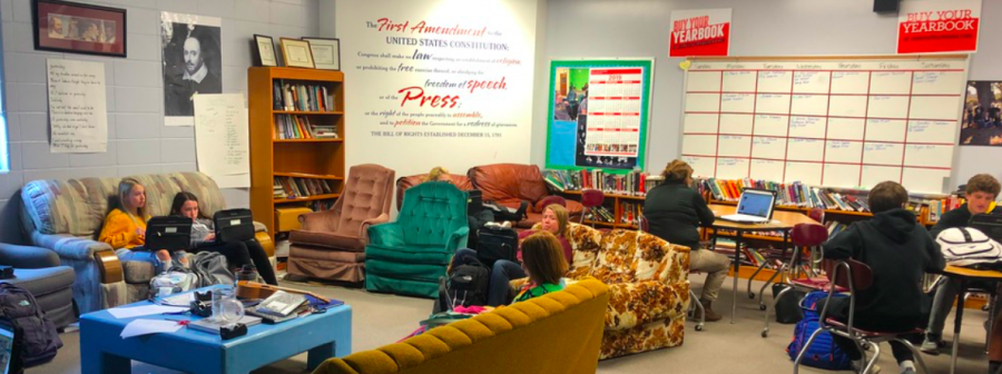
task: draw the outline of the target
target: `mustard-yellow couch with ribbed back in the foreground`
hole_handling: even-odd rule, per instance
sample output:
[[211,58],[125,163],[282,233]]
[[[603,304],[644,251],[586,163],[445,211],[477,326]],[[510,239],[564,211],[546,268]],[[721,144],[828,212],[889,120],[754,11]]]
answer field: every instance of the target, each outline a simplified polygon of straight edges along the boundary
[[330,358],[314,374],[595,373],[609,288],[596,279],[401,343]]

